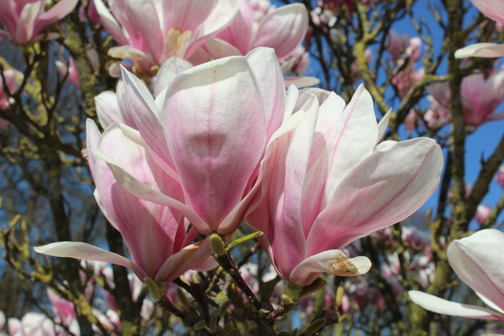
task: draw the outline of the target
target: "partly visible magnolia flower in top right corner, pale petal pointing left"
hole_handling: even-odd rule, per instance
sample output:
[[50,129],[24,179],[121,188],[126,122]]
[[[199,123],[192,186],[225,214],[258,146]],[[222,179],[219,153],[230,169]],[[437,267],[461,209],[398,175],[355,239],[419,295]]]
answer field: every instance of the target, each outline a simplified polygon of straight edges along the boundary
[[[504,3],[495,0],[471,0],[471,2],[481,13],[495,20],[497,24],[504,24]],[[502,56],[504,56],[504,44],[476,43],[455,51],[456,58]]]

